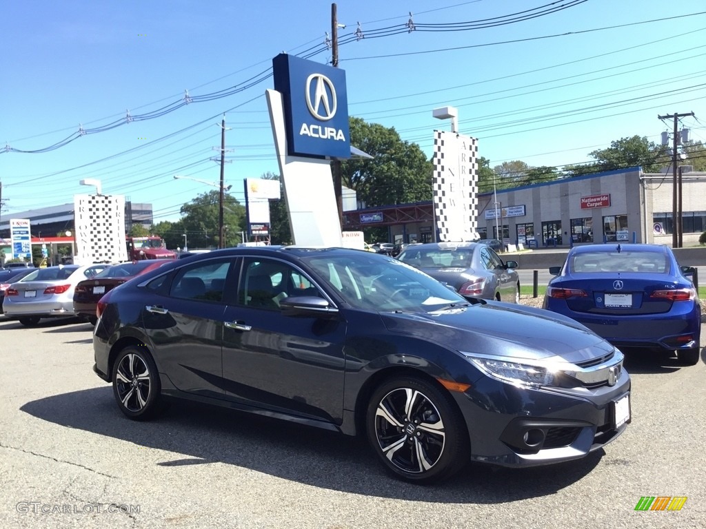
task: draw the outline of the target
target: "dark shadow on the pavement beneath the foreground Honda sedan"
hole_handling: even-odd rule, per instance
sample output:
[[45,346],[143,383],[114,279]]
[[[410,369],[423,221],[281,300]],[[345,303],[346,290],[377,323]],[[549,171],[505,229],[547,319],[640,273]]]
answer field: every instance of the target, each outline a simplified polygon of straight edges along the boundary
[[411,501],[502,504],[542,497],[583,478],[604,454],[601,449],[578,461],[522,470],[469,465],[451,480],[425,487],[388,475],[363,437],[226,408],[180,401],[157,420],[134,422],[120,413],[112,387],[106,386],[32,401],[21,410],[57,425],[179,454],[160,466],[226,463],[315,487]]

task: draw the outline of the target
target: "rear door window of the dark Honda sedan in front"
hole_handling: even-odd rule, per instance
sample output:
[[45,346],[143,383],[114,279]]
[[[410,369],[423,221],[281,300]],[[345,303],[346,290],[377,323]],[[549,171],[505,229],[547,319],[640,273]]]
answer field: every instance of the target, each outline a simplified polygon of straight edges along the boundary
[[169,296],[203,301],[221,301],[230,260],[205,261],[184,267],[172,281]]

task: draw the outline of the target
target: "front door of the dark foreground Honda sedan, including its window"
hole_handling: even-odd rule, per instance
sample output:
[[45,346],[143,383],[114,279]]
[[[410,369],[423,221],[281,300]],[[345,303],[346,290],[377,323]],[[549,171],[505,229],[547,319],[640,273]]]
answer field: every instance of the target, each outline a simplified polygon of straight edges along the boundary
[[340,423],[345,322],[284,315],[286,296],[325,294],[281,260],[246,257],[225,311],[223,377],[229,398],[302,418]]

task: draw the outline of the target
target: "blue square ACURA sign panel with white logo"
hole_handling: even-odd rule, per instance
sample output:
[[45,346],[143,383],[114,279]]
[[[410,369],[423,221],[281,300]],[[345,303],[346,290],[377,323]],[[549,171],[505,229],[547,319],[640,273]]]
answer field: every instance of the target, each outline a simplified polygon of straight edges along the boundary
[[346,73],[279,54],[275,90],[282,94],[290,156],[350,158]]

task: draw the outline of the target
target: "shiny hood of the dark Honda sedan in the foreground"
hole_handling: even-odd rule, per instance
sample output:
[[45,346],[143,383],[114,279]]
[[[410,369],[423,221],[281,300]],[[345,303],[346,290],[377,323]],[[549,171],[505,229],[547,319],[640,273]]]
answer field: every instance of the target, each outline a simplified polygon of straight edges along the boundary
[[532,360],[558,357],[578,363],[613,351],[610,343],[568,317],[510,303],[381,316],[390,332],[418,336],[465,353]]

